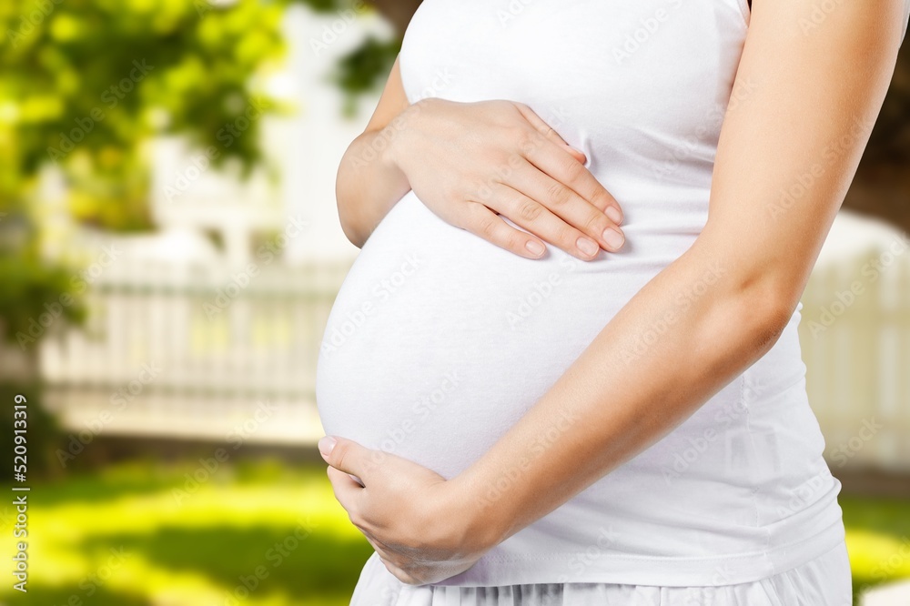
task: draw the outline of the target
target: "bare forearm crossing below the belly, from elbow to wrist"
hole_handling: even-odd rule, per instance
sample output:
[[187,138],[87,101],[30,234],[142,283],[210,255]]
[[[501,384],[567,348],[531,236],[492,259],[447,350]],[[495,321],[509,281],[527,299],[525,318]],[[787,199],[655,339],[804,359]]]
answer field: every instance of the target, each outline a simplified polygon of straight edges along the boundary
[[454,481],[496,544],[688,418],[759,359],[795,302],[710,236],[622,308],[553,388]]

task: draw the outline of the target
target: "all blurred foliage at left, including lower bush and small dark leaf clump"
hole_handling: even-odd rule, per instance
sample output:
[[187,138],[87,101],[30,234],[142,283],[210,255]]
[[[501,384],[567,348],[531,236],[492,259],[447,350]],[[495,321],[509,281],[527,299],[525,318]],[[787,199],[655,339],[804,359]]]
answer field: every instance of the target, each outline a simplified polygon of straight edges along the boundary
[[[304,1],[322,12],[349,5]],[[150,136],[215,146],[216,166],[232,158],[255,165],[256,118],[281,109],[261,85],[285,49],[288,2],[0,3],[0,338],[27,333],[47,304],[79,294],[75,268],[41,257],[43,167],[66,177],[76,220],[125,231],[153,227]],[[336,82],[355,95],[375,86],[396,45],[369,40],[342,61]],[[77,299],[63,309],[67,320],[82,315]]]

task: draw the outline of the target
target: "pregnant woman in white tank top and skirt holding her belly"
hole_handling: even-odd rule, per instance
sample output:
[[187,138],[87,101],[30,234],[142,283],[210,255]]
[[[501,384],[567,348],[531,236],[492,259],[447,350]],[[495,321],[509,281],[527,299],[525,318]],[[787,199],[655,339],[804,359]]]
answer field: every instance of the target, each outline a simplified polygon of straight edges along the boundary
[[851,603],[799,298],[908,10],[420,6],[339,169],[352,604]]

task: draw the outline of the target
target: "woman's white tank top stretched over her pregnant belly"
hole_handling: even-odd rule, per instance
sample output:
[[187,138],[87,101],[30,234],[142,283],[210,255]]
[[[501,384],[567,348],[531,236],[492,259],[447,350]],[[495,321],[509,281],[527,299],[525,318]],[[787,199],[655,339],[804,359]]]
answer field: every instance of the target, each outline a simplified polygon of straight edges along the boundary
[[[326,432],[450,478],[521,419],[702,230],[723,112],[748,92],[732,90],[748,18],[746,0],[425,0],[400,54],[410,102],[528,104],[620,201],[626,245],[591,262],[555,247],[519,258],[409,192],[332,309],[317,376]],[[723,585],[831,549],[840,483],[806,399],[798,322],[797,309],[666,438],[440,584]],[[485,497],[508,499],[512,481],[520,471]]]

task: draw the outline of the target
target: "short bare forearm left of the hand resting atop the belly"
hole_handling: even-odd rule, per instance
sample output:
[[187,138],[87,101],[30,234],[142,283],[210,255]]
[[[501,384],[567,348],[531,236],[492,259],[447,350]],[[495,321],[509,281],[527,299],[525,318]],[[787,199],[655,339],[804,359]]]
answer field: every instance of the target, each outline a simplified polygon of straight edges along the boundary
[[396,124],[358,136],[341,159],[335,182],[339,219],[345,235],[358,247],[410,190],[408,178],[384,153]]

